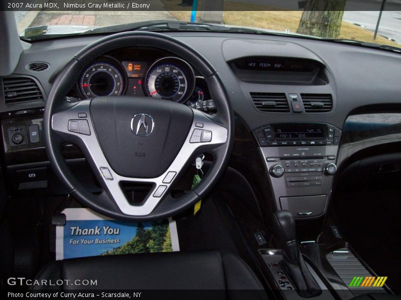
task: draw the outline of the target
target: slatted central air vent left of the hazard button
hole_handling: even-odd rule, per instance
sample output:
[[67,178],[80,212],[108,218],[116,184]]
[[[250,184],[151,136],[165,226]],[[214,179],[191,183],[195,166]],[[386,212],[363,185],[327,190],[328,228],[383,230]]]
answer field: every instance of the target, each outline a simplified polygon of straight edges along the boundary
[[290,112],[285,93],[251,92],[256,108],[266,112]]

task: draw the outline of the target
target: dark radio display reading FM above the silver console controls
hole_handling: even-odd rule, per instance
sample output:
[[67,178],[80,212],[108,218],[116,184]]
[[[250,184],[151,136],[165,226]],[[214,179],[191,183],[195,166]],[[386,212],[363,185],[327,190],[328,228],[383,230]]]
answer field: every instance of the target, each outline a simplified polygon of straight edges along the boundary
[[272,124],[276,140],[324,139],[325,126],[322,124],[296,123]]

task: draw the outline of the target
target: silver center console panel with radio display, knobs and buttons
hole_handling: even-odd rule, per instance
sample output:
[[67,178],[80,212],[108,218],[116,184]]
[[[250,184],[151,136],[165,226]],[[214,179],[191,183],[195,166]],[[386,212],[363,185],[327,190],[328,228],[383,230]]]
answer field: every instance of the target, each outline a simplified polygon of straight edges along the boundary
[[295,218],[326,212],[341,130],[327,123],[271,123],[254,130],[277,209]]

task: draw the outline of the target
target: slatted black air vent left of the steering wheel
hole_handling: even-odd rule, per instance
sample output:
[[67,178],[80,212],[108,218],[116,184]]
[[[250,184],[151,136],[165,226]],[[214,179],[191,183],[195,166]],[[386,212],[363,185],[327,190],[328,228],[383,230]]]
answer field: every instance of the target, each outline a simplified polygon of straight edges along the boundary
[[29,77],[3,78],[6,104],[43,101],[43,94],[34,79]]

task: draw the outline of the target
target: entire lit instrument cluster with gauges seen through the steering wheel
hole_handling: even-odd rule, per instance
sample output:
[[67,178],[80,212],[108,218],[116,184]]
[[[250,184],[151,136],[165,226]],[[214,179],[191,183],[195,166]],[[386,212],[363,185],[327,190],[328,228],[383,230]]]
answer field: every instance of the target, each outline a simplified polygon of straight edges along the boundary
[[149,96],[185,103],[209,113],[217,110],[204,77],[195,76],[185,60],[174,56],[150,61],[101,56],[85,68],[76,89],[80,98]]

